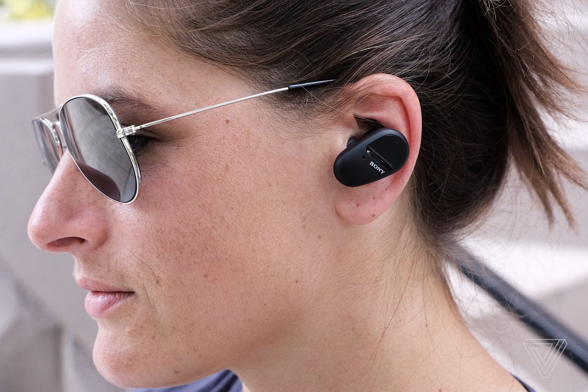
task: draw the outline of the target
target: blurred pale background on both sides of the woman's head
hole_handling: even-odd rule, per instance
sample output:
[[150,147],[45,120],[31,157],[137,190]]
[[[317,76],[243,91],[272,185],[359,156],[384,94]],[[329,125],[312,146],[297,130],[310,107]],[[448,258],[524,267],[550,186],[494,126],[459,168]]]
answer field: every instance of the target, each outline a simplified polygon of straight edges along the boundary
[[[0,391],[121,391],[92,363],[97,327],[85,313],[85,290],[73,258],[29,241],[28,217],[49,182],[30,120],[55,107],[51,55],[52,1],[0,0]],[[588,85],[588,2],[558,1],[544,15],[550,45]],[[588,119],[588,97],[574,98]],[[549,119],[549,121],[552,121]],[[564,148],[588,170],[586,122],[553,121]],[[517,290],[588,340],[588,194],[564,182],[579,223],[556,211],[550,232],[537,199],[510,173],[485,222],[463,243]],[[476,336],[511,373],[537,392],[588,392],[588,375],[561,357],[549,375],[525,345],[537,335],[455,272],[450,281]],[[553,350],[541,351],[547,362]]]

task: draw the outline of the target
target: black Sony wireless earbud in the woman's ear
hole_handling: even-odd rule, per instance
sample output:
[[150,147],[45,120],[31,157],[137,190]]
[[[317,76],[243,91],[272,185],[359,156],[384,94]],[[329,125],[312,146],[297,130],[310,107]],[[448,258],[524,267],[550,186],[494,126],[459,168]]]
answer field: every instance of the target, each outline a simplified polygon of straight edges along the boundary
[[366,185],[402,169],[408,152],[402,133],[379,125],[359,139],[349,138],[347,148],[335,159],[333,172],[343,185]]

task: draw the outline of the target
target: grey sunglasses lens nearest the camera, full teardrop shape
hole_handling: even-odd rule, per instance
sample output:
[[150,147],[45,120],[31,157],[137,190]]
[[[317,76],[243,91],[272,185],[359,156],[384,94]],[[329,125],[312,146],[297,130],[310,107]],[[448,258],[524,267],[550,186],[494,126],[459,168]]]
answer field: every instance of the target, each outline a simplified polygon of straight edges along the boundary
[[62,108],[59,122],[68,150],[86,179],[112,200],[130,202],[137,192],[135,168],[101,103],[73,98]]

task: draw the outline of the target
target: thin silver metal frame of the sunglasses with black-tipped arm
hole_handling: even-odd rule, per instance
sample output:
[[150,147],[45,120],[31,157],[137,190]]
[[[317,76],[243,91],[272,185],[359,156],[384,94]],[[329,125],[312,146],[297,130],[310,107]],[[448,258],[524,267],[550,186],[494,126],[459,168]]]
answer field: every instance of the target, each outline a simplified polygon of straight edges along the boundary
[[[135,170],[135,195],[133,195],[132,199],[129,200],[128,202],[119,202],[118,200],[112,199],[112,197],[106,195],[101,190],[99,190],[95,185],[93,185],[93,183],[83,173],[82,169],[80,169],[78,162],[76,162],[75,159],[74,159],[74,163],[78,167],[78,170],[85,177],[85,179],[88,180],[88,182],[96,190],[98,190],[98,192],[102,193],[102,195],[108,197],[108,199],[111,199],[113,202],[116,202],[119,204],[130,204],[130,203],[134,202],[136,200],[136,198],[139,196],[139,190],[140,190],[140,185],[141,185],[141,170],[139,170],[139,163],[137,162],[137,159],[135,157],[135,153],[133,153],[133,150],[131,148],[131,145],[129,144],[129,140],[127,139],[127,136],[142,135],[143,132],[141,132],[141,129],[143,129],[143,128],[148,128],[149,126],[158,125],[163,122],[175,120],[178,118],[182,118],[184,116],[193,115],[195,113],[204,112],[206,110],[220,108],[221,106],[230,105],[231,103],[241,102],[243,100],[258,98],[260,96],[275,94],[275,93],[279,93],[279,92],[293,91],[293,90],[298,90],[298,89],[306,89],[306,88],[312,88],[315,86],[323,86],[323,85],[326,85],[326,84],[334,82],[334,81],[335,81],[335,79],[330,79],[330,80],[326,80],[326,81],[298,83],[298,84],[294,84],[294,85],[289,85],[287,87],[283,87],[283,88],[279,88],[279,89],[275,89],[275,90],[270,90],[270,91],[265,91],[265,92],[260,92],[260,93],[256,93],[253,95],[245,96],[243,98],[237,98],[237,99],[228,100],[226,102],[217,103],[216,105],[206,106],[206,108],[191,110],[190,112],[181,113],[179,115],[163,118],[161,120],[155,120],[155,121],[148,122],[148,123],[145,123],[142,125],[138,125],[138,126],[130,125],[130,126],[126,126],[124,128],[121,126],[121,123],[119,122],[118,116],[116,116],[116,113],[112,109],[111,105],[109,105],[109,103],[106,102],[106,100],[100,98],[99,96],[92,95],[92,94],[81,94],[81,95],[72,96],[71,98],[66,100],[64,103],[59,105],[57,108],[55,108],[47,113],[44,113],[40,116],[35,117],[34,119],[32,119],[32,122],[33,123],[41,122],[42,126],[45,126],[46,128],[48,128],[50,130],[51,136],[52,136],[51,140],[54,143],[54,147],[58,152],[59,160],[61,160],[61,158],[64,154],[64,150],[66,150],[70,147],[75,148],[75,146],[67,146],[66,144],[64,144],[62,142],[62,140],[65,141],[65,137],[64,137],[64,132],[63,132],[62,126],[61,126],[61,122],[59,121],[59,116],[61,115],[61,110],[64,108],[64,106],[68,102],[70,102],[71,100],[74,100],[74,99],[78,99],[78,98],[87,98],[87,99],[94,100],[95,102],[98,102],[99,105],[101,105],[102,108],[106,111],[106,113],[108,113],[108,115],[110,116],[112,123],[116,129],[116,136],[119,139],[121,139],[121,142],[125,146],[126,152],[129,155],[129,159],[131,159],[131,163],[133,165],[133,170]],[[52,119],[54,119],[54,120],[52,120]],[[35,127],[33,127],[33,128],[35,128]],[[35,128],[35,132],[38,132],[36,130],[36,128]],[[145,132],[144,135],[148,135],[148,132]],[[72,138],[69,138],[69,139],[72,139]],[[41,146],[39,146],[39,148],[41,148]],[[43,151],[41,151],[41,152],[44,153]],[[73,156],[72,156],[72,158],[73,158]],[[59,161],[58,161],[58,163],[59,163]]]

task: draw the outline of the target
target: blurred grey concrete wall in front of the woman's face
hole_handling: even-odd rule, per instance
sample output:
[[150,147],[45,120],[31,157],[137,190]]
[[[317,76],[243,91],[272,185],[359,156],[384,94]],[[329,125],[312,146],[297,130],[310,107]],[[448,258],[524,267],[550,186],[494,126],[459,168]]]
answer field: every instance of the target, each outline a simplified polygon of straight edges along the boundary
[[93,367],[98,329],[73,258],[41,252],[26,234],[50,179],[31,118],[53,105],[51,25],[0,24],[0,390],[121,390]]

